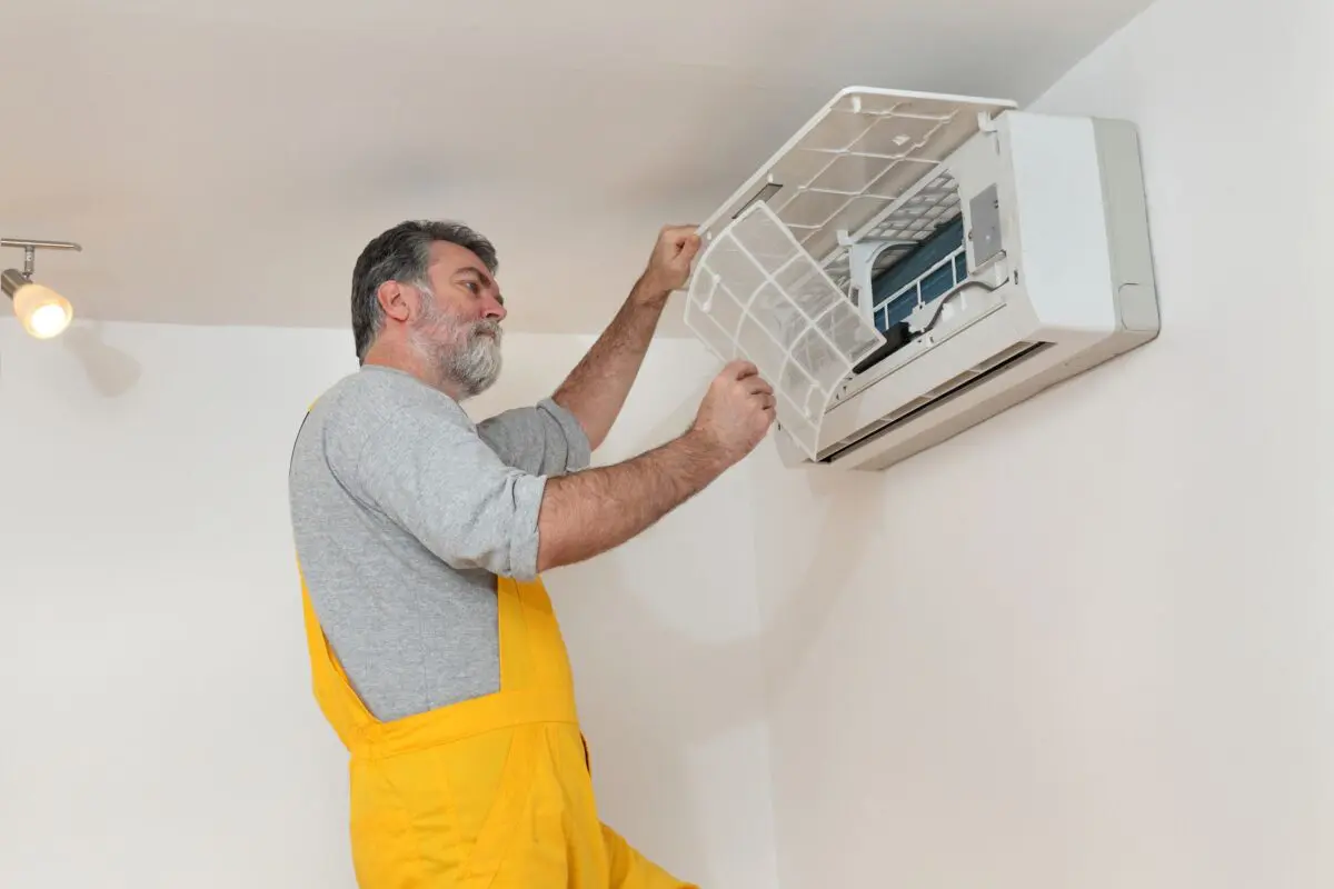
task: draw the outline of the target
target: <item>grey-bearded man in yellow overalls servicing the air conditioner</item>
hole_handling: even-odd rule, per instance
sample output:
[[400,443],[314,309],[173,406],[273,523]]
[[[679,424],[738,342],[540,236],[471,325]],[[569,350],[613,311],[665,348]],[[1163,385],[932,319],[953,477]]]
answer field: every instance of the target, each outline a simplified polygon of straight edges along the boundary
[[690,429],[588,468],[699,249],[664,228],[555,393],[474,424],[500,371],[492,245],[404,223],[352,275],[360,369],[307,415],[289,472],[315,696],[351,753],[364,889],[684,886],[598,818],[539,574],[643,532],[750,453],[774,392],[744,363]]

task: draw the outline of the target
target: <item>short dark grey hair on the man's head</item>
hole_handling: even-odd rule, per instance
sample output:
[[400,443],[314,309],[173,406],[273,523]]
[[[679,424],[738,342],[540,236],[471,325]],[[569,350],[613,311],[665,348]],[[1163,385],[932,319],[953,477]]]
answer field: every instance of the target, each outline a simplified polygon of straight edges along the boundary
[[491,275],[496,273],[495,247],[462,223],[410,220],[382,233],[366,245],[352,269],[352,339],[359,363],[366,361],[366,353],[384,325],[376,291],[386,281],[403,281],[430,292],[427,269],[431,245],[436,241],[472,251]]

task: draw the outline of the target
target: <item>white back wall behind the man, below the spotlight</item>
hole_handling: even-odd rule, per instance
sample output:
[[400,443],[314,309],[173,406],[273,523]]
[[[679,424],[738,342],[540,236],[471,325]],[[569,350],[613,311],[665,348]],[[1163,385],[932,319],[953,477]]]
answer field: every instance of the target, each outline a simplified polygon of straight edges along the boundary
[[[584,343],[510,337],[479,412]],[[343,332],[0,323],[0,885],[352,886],[285,478],[352,367]],[[655,345],[600,458],[683,428],[711,369]],[[748,497],[735,473],[548,586],[604,818],[683,876],[771,886]]]

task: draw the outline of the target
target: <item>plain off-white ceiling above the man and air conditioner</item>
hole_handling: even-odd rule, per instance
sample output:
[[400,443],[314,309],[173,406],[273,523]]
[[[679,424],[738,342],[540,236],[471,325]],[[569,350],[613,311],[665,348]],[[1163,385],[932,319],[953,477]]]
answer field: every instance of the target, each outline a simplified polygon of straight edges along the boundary
[[80,317],[346,327],[366,241],[450,217],[510,329],[594,333],[839,88],[1022,104],[1147,0],[7,5],[0,235],[83,245],[37,257]]

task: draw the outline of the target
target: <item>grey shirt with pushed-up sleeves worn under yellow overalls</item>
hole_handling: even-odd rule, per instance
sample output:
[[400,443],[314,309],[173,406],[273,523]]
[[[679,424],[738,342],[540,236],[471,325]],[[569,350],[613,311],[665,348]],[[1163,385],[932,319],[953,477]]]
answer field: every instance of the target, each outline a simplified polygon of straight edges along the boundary
[[536,574],[547,477],[588,462],[550,399],[474,424],[444,393],[367,365],[315,403],[288,477],[296,554],[376,718],[499,688],[496,574]]

